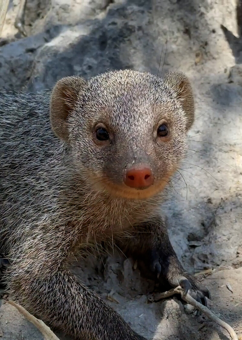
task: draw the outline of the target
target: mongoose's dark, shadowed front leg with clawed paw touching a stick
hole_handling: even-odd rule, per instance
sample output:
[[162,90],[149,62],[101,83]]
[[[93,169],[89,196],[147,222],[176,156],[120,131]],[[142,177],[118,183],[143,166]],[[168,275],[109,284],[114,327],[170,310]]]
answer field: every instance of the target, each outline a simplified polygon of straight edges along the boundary
[[118,247],[138,262],[141,274],[159,282],[164,289],[182,286],[198,302],[207,305],[209,290],[185,272],[168,237],[165,222],[156,217],[135,226],[131,237],[119,238]]

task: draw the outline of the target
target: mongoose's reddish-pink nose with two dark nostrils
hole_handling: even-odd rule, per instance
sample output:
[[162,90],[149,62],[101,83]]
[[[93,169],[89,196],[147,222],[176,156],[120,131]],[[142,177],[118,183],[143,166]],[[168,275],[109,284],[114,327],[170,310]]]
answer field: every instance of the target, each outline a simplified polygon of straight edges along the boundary
[[154,175],[148,165],[140,165],[128,169],[123,180],[128,187],[147,188],[154,183]]

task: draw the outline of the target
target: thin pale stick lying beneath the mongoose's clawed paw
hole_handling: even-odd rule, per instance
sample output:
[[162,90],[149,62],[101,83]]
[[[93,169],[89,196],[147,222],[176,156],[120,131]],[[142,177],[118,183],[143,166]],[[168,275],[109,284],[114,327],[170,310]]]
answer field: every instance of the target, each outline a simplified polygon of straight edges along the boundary
[[163,293],[155,293],[154,301],[166,299],[167,297],[172,296],[174,294],[180,294],[184,301],[186,301],[190,305],[194,306],[196,309],[203,312],[210,320],[217,322],[221,327],[225,328],[228,331],[229,335],[231,336],[232,340],[238,340],[238,337],[231,326],[229,326],[226,322],[217,317],[208,307],[202,305],[201,303],[193,299],[193,297],[190,294],[187,293],[185,295],[183,288],[180,286]]

